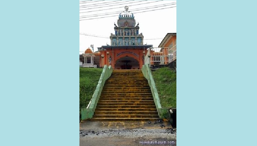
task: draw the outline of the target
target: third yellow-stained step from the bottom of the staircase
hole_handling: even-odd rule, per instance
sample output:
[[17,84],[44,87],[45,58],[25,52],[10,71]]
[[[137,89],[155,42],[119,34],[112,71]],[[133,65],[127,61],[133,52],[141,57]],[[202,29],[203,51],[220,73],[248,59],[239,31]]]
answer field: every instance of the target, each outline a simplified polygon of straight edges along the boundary
[[156,115],[157,111],[95,111],[94,114],[145,114],[145,115]]

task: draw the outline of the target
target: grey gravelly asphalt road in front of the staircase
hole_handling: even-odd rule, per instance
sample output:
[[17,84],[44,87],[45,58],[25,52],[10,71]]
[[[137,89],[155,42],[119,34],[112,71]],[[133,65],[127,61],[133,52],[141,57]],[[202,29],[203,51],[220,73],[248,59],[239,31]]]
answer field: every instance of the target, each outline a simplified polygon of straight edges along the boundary
[[80,130],[80,146],[176,146],[176,128]]

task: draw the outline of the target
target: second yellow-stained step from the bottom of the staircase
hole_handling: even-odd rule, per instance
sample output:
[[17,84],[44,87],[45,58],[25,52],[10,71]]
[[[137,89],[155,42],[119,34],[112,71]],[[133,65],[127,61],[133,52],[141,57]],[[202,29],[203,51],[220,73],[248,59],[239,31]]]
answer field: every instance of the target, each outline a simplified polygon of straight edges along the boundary
[[94,114],[93,118],[159,118],[158,114]]

